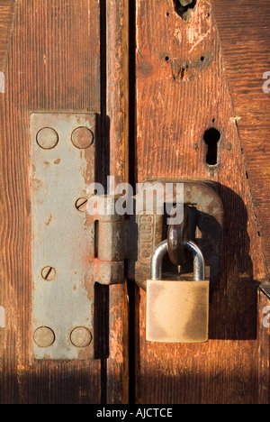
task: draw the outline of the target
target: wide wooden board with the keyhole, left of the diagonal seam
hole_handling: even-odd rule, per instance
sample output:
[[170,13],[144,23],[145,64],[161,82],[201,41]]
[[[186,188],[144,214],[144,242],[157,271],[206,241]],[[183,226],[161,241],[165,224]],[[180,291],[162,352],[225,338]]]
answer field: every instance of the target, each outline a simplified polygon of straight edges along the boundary
[[[171,0],[137,0],[136,25],[137,181],[211,180],[225,211],[207,344],[147,343],[139,290],[137,402],[255,403],[257,283],[266,259],[211,2],[198,1],[184,21]],[[212,126],[221,134],[214,167],[203,141]]]

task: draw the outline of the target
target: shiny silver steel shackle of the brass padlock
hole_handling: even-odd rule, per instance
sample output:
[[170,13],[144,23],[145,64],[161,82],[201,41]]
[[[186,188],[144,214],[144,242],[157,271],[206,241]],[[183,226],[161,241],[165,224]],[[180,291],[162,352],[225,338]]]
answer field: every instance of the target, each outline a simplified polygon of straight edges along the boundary
[[[193,242],[184,241],[184,247],[193,253],[193,273],[194,281],[204,280],[204,258],[201,249]],[[167,240],[157,246],[151,261],[151,280],[161,280],[162,260],[167,252]]]

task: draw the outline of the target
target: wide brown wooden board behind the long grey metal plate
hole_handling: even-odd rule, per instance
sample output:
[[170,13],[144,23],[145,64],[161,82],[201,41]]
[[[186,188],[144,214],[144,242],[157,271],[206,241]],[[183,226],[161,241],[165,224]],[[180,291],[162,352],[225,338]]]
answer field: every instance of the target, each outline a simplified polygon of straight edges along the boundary
[[[6,2],[7,3],[7,2]],[[1,101],[1,403],[99,403],[99,360],[31,358],[31,111],[100,112],[99,2],[18,2]],[[72,178],[72,176],[71,176]]]

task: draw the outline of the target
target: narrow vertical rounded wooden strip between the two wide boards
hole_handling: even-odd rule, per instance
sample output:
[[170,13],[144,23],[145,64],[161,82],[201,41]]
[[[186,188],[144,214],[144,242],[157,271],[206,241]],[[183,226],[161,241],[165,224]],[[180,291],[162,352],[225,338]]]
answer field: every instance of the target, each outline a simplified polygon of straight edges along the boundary
[[[129,177],[129,1],[106,2],[107,112],[110,175],[115,185]],[[129,401],[128,301],[126,285],[110,286],[107,403]]]

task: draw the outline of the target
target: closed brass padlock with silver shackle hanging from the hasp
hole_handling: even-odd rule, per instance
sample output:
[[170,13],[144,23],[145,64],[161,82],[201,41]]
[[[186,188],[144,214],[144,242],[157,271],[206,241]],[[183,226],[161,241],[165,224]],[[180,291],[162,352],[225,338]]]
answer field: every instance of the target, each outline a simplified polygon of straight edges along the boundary
[[[184,242],[193,252],[193,280],[177,274],[162,280],[162,260],[167,241],[160,243],[151,261],[147,282],[147,341],[159,343],[204,343],[208,341],[210,282],[204,280],[204,260],[193,242]],[[177,280],[178,279],[178,280]]]

